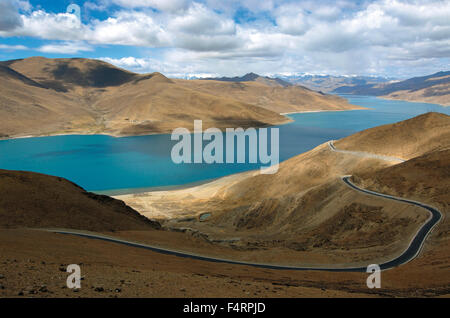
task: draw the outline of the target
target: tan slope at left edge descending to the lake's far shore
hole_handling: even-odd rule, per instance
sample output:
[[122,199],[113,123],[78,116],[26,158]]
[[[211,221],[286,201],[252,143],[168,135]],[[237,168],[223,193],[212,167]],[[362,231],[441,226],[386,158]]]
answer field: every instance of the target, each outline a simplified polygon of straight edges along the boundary
[[0,66],[0,137],[91,129],[95,111],[74,94],[62,94]]

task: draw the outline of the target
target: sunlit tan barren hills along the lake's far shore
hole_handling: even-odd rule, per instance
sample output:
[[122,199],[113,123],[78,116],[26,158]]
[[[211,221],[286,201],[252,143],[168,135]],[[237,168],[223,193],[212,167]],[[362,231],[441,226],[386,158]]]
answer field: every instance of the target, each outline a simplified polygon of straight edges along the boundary
[[80,58],[0,62],[0,80],[1,137],[168,133],[192,129],[194,119],[204,129],[262,127],[288,122],[280,112],[358,108],[301,88],[251,82],[247,90],[223,89]]

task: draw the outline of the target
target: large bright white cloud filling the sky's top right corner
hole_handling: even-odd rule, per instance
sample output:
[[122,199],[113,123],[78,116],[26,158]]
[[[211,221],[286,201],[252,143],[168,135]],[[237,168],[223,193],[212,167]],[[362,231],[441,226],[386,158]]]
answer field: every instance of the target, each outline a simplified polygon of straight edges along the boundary
[[[379,46],[387,50],[422,41],[432,43],[433,38],[448,40],[449,28],[450,2],[417,5],[385,0],[370,4],[351,17],[315,25],[303,40],[304,48],[310,51],[343,52],[363,47],[372,50]],[[413,50],[411,46],[411,53]]]

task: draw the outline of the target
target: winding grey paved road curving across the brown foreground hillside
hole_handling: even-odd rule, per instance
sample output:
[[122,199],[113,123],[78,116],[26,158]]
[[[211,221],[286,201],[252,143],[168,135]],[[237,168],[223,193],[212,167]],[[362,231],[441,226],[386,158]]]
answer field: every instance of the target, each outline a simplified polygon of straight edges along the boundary
[[[404,161],[400,158],[394,158],[394,157],[386,157],[386,156],[380,156],[376,154],[370,154],[366,152],[356,152],[356,151],[347,151],[347,150],[340,150],[336,149],[336,147],[333,144],[333,141],[329,141],[328,145],[332,151],[336,152],[343,152],[343,153],[349,153],[357,156],[365,156],[365,157],[372,157],[382,160],[388,160],[388,161]],[[400,197],[394,197],[387,194],[382,194],[366,189],[359,188],[355,184],[353,184],[350,181],[351,176],[343,176],[342,181],[349,186],[350,188],[360,191],[362,193],[365,193],[367,195],[373,195],[377,197],[381,197],[388,200],[394,200],[399,201],[407,204],[412,204],[419,206],[425,210],[427,210],[430,214],[429,218],[426,220],[426,222],[420,227],[420,229],[416,232],[415,236],[409,243],[408,247],[397,257],[393,258],[390,261],[387,261],[382,264],[378,264],[381,268],[381,270],[388,270],[394,267],[397,267],[399,265],[405,264],[411,260],[413,260],[417,255],[419,255],[422,246],[427,238],[427,236],[431,233],[434,226],[441,220],[442,214],[439,210],[437,210],[434,207],[431,207],[427,204],[408,200]],[[259,268],[265,268],[265,269],[273,269],[273,270],[298,270],[298,271],[330,271],[330,272],[366,272],[367,266],[364,267],[295,267],[295,266],[283,266],[283,265],[273,265],[273,264],[263,264],[263,263],[251,263],[251,262],[240,262],[240,261],[234,261],[230,259],[222,259],[222,258],[214,258],[214,257],[208,257],[208,256],[202,256],[197,255],[193,253],[187,253],[182,251],[176,251],[161,247],[156,247],[148,244],[142,244],[137,242],[132,242],[128,240],[123,240],[119,238],[114,238],[110,236],[105,236],[98,233],[87,233],[82,231],[76,231],[76,230],[63,230],[63,229],[43,229],[44,231],[49,231],[53,233],[58,234],[66,234],[66,235],[76,235],[84,238],[89,239],[96,239],[96,240],[102,240],[107,241],[111,243],[116,244],[122,244],[130,247],[136,247],[136,248],[143,248],[147,249],[153,252],[162,253],[162,254],[168,254],[178,257],[184,257],[184,258],[190,258],[194,260],[200,260],[200,261],[206,261],[206,262],[214,262],[214,263],[226,263],[231,265],[245,265],[245,266],[253,266],[253,267],[259,267]],[[368,263],[367,265],[372,264]]]

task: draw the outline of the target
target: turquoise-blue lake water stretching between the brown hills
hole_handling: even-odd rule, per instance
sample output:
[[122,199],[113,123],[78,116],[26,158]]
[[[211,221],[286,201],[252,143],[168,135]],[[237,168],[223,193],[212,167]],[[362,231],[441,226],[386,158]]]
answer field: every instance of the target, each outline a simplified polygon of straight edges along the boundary
[[[330,139],[405,120],[429,111],[450,115],[450,107],[345,96],[367,110],[289,115],[280,129],[280,161]],[[103,135],[53,136],[0,141],[0,168],[67,178],[90,191],[145,188],[201,182],[259,168],[259,164],[174,164],[170,135],[114,138]],[[138,190],[138,191],[139,191]]]

